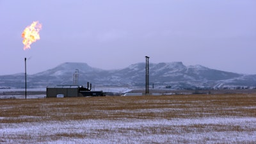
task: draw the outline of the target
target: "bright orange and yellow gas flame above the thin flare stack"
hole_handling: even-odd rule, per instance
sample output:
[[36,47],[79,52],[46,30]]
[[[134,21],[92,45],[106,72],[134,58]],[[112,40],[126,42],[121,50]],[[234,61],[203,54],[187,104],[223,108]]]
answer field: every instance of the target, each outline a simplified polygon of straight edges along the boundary
[[30,49],[30,45],[36,40],[40,40],[39,31],[42,29],[42,24],[38,21],[33,22],[30,26],[27,26],[22,32],[24,50]]

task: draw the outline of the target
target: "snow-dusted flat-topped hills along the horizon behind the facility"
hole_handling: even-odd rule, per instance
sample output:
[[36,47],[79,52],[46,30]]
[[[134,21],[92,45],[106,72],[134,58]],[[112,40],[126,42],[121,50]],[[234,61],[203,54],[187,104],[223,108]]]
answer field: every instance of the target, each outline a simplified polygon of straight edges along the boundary
[[[79,70],[78,82],[97,86],[144,86],[145,63],[135,63],[119,70],[102,70],[86,63],[63,63],[55,68],[27,76],[28,88],[45,88],[56,84],[74,84],[74,72]],[[150,84],[155,88],[253,88],[256,75],[236,74],[203,67],[185,66],[182,62],[150,63]],[[24,88],[24,74],[0,76],[0,88]]]

